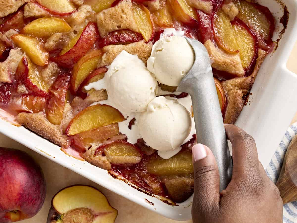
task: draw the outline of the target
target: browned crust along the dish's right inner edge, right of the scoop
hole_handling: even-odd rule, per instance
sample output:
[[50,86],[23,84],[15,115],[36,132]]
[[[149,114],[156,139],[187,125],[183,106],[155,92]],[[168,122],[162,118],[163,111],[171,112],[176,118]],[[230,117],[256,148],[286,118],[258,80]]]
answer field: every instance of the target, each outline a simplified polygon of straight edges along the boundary
[[267,52],[259,49],[259,57],[257,58],[255,70],[248,77],[237,77],[222,82],[222,87],[227,96],[227,108],[225,113],[224,122],[234,124],[244,106],[243,96],[246,95],[255,82],[257,73],[267,55]]

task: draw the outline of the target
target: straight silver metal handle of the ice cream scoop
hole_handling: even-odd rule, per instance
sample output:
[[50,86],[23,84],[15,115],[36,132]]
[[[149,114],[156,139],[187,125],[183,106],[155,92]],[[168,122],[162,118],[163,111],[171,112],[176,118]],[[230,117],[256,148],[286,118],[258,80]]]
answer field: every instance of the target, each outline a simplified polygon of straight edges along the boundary
[[233,164],[228,147],[222,113],[213,78],[193,86],[192,98],[197,142],[208,146],[216,158],[220,176],[220,191],[226,189]]

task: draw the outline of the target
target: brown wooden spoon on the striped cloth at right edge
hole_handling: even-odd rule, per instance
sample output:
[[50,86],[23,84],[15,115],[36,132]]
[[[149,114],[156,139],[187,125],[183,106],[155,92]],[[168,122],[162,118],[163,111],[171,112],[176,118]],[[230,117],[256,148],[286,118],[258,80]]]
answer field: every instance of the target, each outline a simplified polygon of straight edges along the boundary
[[284,204],[297,200],[297,135],[287,149],[276,185]]

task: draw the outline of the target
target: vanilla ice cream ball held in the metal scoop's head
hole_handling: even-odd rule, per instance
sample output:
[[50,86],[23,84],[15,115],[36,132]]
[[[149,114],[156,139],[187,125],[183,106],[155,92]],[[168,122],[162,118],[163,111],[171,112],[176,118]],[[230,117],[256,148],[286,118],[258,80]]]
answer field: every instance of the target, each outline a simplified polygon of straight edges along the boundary
[[159,83],[177,87],[191,69],[194,59],[194,51],[184,37],[170,36],[153,45],[146,65]]

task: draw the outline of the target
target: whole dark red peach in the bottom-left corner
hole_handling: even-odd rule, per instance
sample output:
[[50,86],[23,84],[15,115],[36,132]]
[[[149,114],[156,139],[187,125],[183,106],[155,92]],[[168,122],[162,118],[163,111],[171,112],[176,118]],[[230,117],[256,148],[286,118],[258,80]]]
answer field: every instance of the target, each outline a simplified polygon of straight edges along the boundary
[[23,151],[0,147],[0,222],[31,218],[41,209],[45,194],[39,165]]

